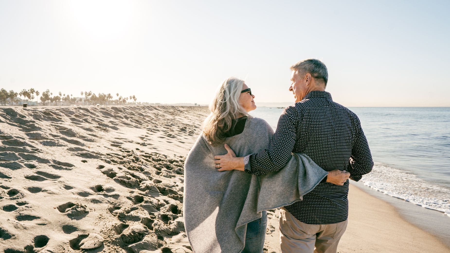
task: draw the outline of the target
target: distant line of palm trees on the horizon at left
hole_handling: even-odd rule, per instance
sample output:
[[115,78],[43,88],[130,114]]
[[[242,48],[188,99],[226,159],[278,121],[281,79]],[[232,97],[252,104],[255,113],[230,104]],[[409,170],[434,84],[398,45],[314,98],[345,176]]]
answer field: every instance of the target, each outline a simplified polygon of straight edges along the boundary
[[[14,90],[7,91],[5,89],[0,89],[0,105],[14,105],[21,101],[34,101],[39,97],[40,92],[31,88],[31,89],[23,89],[19,93],[14,92]],[[36,95],[36,97],[35,97]],[[84,98],[83,98],[84,95]],[[116,93],[117,98],[114,99],[111,93],[98,93],[97,95],[92,91],[81,92],[81,98],[74,98],[72,94],[64,94],[58,92],[53,96],[53,93],[50,92],[49,89],[45,90],[42,94],[40,94],[40,104],[41,105],[136,105],[141,104],[140,102],[136,103],[136,96],[132,95],[129,97],[119,96],[119,93]],[[23,100],[22,100],[23,97]],[[39,104],[39,101],[36,101]]]

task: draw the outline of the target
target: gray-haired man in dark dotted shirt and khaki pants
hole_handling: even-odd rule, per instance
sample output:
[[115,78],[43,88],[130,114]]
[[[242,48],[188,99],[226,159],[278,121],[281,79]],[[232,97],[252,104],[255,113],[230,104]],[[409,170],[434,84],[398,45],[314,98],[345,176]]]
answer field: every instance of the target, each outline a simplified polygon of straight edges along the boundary
[[347,227],[347,178],[360,180],[374,163],[358,117],[333,102],[330,93],[325,92],[328,71],[324,63],[307,59],[291,66],[291,70],[289,91],[296,103],[283,111],[267,148],[257,154],[235,157],[225,144],[229,153],[215,157],[216,168],[261,175],[282,169],[291,152],[309,155],[329,171],[329,176],[304,195],[302,201],[280,210],[281,250],[336,253]]

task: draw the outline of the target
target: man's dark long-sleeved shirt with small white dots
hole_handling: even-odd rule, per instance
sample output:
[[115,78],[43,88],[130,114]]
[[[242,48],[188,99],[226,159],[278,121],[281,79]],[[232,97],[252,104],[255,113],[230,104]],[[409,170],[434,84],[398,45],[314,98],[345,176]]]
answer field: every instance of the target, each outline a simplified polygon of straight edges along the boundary
[[[312,91],[287,107],[267,148],[250,155],[251,171],[248,165],[245,169],[255,175],[277,171],[291,152],[309,155],[326,171],[347,170],[355,181],[374,166],[360,120],[325,91]],[[307,224],[343,222],[348,216],[348,185],[348,180],[343,186],[321,182],[302,201],[285,208]]]

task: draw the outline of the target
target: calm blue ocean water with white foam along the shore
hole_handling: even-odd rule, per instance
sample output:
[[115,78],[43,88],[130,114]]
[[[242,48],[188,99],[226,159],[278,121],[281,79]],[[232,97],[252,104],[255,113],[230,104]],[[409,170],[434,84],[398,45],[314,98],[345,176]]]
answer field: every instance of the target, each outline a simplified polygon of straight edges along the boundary
[[[284,108],[252,116],[276,128]],[[450,217],[450,107],[351,107],[374,158],[366,186]]]

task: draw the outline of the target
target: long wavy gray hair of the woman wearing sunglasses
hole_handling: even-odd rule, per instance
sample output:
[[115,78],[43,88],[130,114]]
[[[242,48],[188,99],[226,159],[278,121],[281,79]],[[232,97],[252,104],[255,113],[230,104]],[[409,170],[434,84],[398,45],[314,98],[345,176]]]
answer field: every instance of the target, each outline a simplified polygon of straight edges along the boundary
[[247,112],[239,104],[244,81],[229,77],[220,85],[216,96],[209,106],[211,114],[203,123],[203,133],[212,146],[217,146],[225,142],[225,133],[232,126],[232,119],[248,116]]

